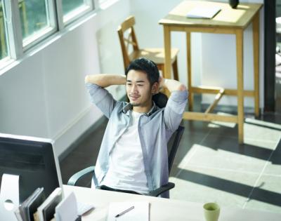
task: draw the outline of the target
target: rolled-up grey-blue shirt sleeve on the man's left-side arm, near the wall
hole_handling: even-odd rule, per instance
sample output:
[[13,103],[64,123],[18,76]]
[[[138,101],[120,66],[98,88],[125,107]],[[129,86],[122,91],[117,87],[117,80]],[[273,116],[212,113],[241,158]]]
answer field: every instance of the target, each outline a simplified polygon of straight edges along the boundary
[[107,118],[110,118],[112,110],[116,105],[116,100],[105,88],[94,83],[86,83],[86,88],[89,91],[91,102],[93,102]]

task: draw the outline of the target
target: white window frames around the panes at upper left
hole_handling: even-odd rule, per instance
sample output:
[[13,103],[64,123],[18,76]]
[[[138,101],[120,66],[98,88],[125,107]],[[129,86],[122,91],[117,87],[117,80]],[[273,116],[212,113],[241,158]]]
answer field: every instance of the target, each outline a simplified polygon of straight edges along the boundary
[[[27,36],[26,39],[23,39],[18,0],[0,1],[2,2],[3,11],[11,11],[11,17],[8,22],[6,14],[3,15],[8,56],[0,58],[1,72],[6,66],[11,65],[13,61],[22,59],[28,51],[32,49],[37,50],[36,46],[40,45],[40,43],[42,43],[45,39],[48,39],[55,33],[63,31],[65,27],[81,19],[81,17],[84,17],[90,12],[96,12],[99,8],[98,0],[84,0],[84,2],[86,2],[86,7],[78,7],[77,10],[73,11],[74,15],[64,21],[63,18],[65,15],[63,15],[62,10],[63,0],[45,0],[49,27],[39,30],[38,33],[32,34],[30,37]],[[11,6],[11,8],[9,8],[9,6]],[[81,10],[83,8],[84,10]]]

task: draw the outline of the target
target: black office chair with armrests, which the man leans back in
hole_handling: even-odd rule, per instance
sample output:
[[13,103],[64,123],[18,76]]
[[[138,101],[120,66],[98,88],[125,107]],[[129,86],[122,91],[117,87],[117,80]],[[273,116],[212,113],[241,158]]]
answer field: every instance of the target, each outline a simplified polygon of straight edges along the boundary
[[[183,135],[183,126],[178,126],[178,129],[174,132],[174,134],[171,136],[169,142],[168,142],[168,166],[169,166],[169,174],[171,172],[171,167],[173,166],[174,158],[176,156],[176,151],[178,149],[178,145],[181,141],[181,136]],[[75,186],[77,185],[77,182],[81,180],[81,178],[84,178],[86,175],[89,175],[93,173],[93,180],[96,180],[96,174],[95,174],[95,166],[89,166],[88,168],[85,168],[84,170],[80,170],[79,172],[72,175],[70,180],[68,180],[67,185]],[[159,196],[160,194],[168,191],[169,189],[173,189],[175,187],[175,184],[173,182],[168,182],[166,185],[162,185],[162,187],[159,187],[152,192],[149,192],[148,196]]]

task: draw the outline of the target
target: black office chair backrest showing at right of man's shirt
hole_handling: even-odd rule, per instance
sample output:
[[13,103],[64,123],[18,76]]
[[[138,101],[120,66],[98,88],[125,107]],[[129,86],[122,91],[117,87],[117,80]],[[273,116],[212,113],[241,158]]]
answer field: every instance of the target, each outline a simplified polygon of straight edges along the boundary
[[183,135],[183,126],[178,126],[178,129],[174,132],[168,142],[168,163],[169,163],[169,174],[171,172],[171,167],[173,166],[173,162],[176,156],[176,151],[178,150],[178,145],[181,141],[181,136]]

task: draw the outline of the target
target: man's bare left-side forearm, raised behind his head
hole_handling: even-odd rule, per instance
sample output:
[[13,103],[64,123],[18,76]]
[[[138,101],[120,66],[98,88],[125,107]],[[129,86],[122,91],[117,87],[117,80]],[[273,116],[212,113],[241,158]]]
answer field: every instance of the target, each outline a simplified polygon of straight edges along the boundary
[[126,76],[121,74],[93,74],[85,77],[85,83],[94,83],[102,88],[112,85],[125,85]]

